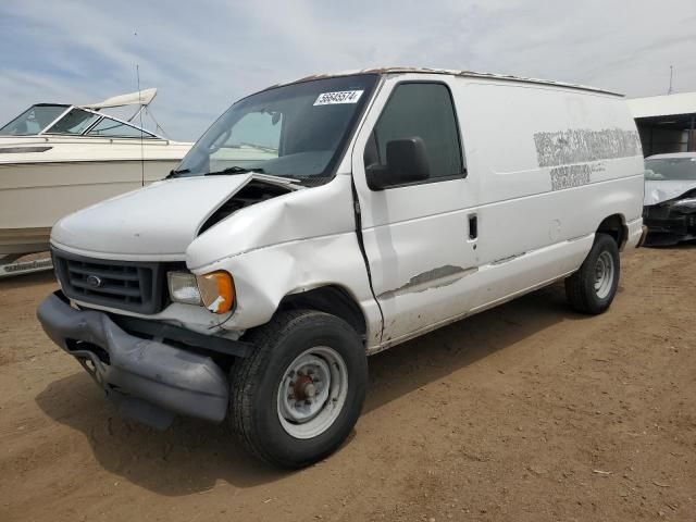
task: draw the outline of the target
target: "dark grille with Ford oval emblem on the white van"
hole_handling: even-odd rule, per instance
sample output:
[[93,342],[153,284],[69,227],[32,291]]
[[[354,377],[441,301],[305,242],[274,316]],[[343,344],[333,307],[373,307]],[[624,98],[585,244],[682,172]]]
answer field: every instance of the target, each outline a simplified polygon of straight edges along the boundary
[[138,313],[157,313],[164,304],[161,263],[107,261],[53,249],[53,265],[71,299]]

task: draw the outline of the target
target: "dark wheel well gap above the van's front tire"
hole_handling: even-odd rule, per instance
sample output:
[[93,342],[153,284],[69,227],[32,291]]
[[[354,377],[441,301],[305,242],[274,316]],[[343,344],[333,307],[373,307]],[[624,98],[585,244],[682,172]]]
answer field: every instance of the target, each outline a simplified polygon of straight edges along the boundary
[[281,310],[311,309],[331,313],[350,324],[359,335],[368,332],[362,310],[348,291],[330,285],[285,296],[278,306]]

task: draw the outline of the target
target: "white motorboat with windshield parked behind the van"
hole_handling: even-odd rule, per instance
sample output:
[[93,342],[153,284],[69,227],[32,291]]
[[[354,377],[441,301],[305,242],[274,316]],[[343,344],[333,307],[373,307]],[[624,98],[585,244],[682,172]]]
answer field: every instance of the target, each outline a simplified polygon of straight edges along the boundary
[[[62,216],[162,179],[178,164],[192,144],[135,123],[156,95],[152,88],[87,105],[38,103],[0,128],[0,265],[48,250]],[[124,105],[137,107],[127,120],[103,112]]]

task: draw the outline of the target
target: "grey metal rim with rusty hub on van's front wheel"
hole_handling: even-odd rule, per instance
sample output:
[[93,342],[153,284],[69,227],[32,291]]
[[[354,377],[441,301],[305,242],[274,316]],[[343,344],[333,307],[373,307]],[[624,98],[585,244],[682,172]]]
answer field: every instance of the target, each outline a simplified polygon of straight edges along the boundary
[[313,438],[331,427],[346,403],[348,369],[327,346],[300,353],[285,370],[277,391],[278,420],[295,438]]

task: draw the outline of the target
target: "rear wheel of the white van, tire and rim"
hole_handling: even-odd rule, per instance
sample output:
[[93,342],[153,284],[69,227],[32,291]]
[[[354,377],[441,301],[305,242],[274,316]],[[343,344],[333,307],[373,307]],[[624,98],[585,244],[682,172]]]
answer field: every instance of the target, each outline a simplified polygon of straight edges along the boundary
[[597,315],[607,311],[617,295],[621,264],[613,237],[596,234],[595,243],[577,272],[566,278],[566,295],[581,313]]

